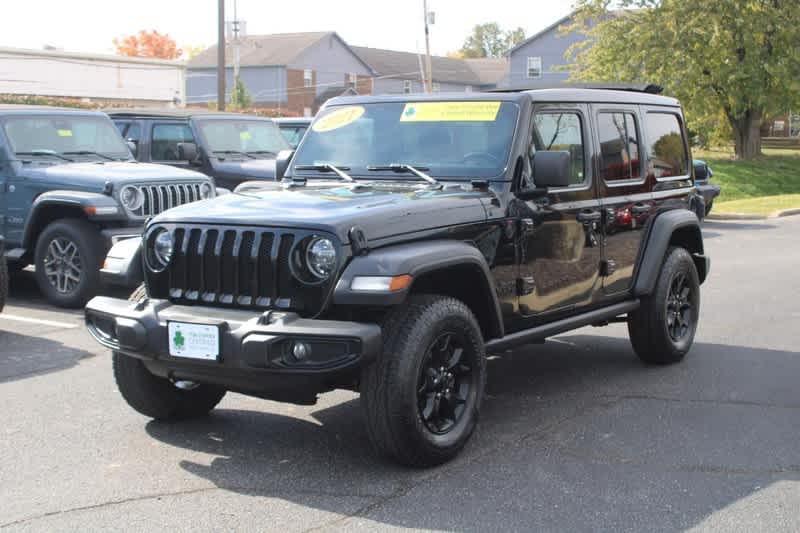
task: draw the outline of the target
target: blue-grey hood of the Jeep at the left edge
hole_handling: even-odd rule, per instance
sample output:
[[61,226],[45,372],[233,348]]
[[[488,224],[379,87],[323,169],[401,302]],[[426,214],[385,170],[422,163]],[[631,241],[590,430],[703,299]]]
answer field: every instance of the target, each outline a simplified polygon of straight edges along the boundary
[[70,188],[100,189],[107,181],[114,183],[149,181],[208,181],[199,172],[150,163],[85,162],[63,165],[23,167],[23,177],[61,183]]

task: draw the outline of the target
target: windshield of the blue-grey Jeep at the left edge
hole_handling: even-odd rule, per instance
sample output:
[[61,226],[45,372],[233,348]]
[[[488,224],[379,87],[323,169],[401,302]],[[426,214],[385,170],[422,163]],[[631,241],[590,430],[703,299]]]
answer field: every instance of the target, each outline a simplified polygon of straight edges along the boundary
[[4,120],[11,149],[17,155],[68,154],[129,159],[130,151],[111,120],[78,115],[21,115]]

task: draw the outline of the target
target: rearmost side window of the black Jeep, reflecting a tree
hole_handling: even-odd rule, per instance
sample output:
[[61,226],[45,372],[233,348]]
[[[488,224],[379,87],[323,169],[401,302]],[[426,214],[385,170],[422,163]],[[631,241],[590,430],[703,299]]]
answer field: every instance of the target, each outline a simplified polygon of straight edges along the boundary
[[678,115],[648,113],[647,130],[648,175],[670,178],[689,174],[689,156]]

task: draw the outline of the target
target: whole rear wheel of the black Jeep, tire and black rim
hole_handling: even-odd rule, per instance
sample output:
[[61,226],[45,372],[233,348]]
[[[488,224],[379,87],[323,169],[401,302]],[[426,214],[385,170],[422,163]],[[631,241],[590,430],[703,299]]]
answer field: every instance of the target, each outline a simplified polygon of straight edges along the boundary
[[653,294],[628,317],[628,333],[639,358],[651,364],[681,361],[692,347],[700,316],[700,281],[692,256],[670,248]]

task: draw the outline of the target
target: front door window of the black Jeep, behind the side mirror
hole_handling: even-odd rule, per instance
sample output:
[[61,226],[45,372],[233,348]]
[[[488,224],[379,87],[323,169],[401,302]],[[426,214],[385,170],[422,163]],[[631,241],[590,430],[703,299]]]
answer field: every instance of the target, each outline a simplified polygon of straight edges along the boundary
[[536,113],[533,116],[530,156],[543,150],[569,152],[570,184],[583,184],[585,164],[580,115],[569,112]]

